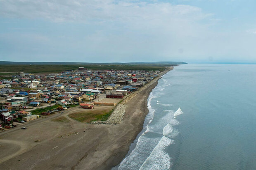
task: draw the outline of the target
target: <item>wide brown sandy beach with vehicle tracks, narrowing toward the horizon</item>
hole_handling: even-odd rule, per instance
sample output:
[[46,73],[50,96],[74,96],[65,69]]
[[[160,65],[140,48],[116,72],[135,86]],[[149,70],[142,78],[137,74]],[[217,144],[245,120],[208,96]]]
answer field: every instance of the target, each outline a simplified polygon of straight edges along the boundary
[[108,170],[118,165],[143,128],[147,98],[160,76],[125,103],[126,113],[120,124],[77,122],[67,115],[82,109],[71,108],[63,114],[67,118],[64,122],[49,118],[26,130],[0,133],[0,169]]

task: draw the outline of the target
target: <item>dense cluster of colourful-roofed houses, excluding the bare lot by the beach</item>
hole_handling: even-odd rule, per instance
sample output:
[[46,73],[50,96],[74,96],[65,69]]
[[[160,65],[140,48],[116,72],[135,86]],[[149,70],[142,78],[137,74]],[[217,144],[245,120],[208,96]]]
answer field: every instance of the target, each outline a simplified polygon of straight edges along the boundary
[[27,117],[31,107],[57,103],[123,98],[157,76],[160,71],[134,70],[68,70],[56,74],[26,74],[0,80],[0,121],[10,123],[15,118]]

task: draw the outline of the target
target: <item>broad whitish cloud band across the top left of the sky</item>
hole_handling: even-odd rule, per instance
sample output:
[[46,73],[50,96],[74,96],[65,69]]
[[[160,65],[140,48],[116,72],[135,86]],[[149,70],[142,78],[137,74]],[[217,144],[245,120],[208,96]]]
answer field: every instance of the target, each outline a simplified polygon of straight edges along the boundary
[[198,7],[130,0],[0,0],[0,16],[54,22],[102,22],[207,17]]

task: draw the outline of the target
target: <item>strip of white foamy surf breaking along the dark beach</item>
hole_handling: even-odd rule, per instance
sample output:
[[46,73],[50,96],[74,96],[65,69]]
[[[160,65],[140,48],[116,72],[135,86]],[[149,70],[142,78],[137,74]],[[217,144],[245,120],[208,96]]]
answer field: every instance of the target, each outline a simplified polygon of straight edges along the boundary
[[[168,170],[171,168],[172,158],[166,152],[166,148],[174,143],[173,138],[178,134],[178,129],[174,126],[179,124],[175,118],[183,112],[180,108],[176,111],[167,110],[168,107],[152,108],[153,104],[173,106],[169,103],[161,103],[160,99],[154,99],[164,95],[161,91],[171,85],[167,83],[164,81],[164,85],[155,88],[149,94],[147,101],[149,113],[145,119],[144,132],[142,131],[137,138],[134,149],[116,167],[119,170]],[[162,108],[166,110],[161,110]]]

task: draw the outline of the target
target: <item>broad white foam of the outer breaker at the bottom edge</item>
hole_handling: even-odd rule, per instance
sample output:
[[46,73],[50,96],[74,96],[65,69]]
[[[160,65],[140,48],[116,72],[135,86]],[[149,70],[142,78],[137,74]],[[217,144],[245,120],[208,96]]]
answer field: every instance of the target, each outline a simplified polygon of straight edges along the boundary
[[164,151],[174,141],[163,136],[140,170],[168,170],[171,167],[171,157]]

